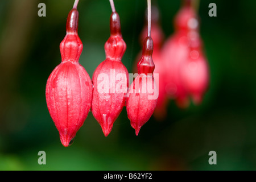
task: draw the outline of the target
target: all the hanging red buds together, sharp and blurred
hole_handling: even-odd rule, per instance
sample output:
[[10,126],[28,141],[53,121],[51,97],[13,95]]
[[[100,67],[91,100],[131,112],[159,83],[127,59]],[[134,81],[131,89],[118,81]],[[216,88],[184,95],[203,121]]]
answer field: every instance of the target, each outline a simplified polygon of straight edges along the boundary
[[121,61],[126,43],[113,0],[110,0],[112,14],[110,37],[105,43],[106,59],[90,79],[79,64],[82,42],[78,35],[79,0],[75,1],[67,18],[67,34],[60,43],[61,63],[46,85],[47,107],[63,146],[72,144],[90,110],[107,137],[124,106],[138,135],[153,113],[156,117],[167,114],[169,98],[179,107],[187,107],[190,97],[200,104],[208,88],[209,68],[203,54],[198,15],[192,0],[183,1],[175,17],[174,35],[163,42],[158,12],[154,9],[151,19],[151,1],[147,0],[147,26],[142,33],[143,47],[133,80]]

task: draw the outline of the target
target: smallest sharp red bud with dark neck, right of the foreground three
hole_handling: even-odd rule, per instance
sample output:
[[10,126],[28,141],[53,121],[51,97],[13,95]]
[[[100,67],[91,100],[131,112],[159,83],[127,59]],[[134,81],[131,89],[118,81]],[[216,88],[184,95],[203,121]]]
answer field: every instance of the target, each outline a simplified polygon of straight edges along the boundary
[[154,113],[158,101],[158,88],[152,76],[155,68],[152,52],[153,40],[147,36],[143,44],[142,58],[138,63],[139,75],[131,84],[126,101],[127,115],[136,135]]

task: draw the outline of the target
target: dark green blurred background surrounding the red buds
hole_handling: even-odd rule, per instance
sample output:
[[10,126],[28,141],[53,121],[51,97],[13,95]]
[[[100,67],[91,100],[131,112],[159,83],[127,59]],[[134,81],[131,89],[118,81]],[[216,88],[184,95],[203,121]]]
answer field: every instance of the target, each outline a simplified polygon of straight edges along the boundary
[[[46,3],[46,17],[38,4]],[[141,47],[146,0],[115,0],[131,68]],[[209,3],[217,17],[209,17]],[[180,1],[158,0],[166,38]],[[48,113],[45,88],[60,63],[59,44],[71,0],[0,1],[1,170],[255,170],[256,1],[200,2],[201,37],[210,65],[210,88],[200,106],[168,105],[168,118],[151,117],[138,135],[124,107],[108,137],[89,113],[75,142],[65,148]],[[105,59],[111,9],[108,0],[81,0],[80,63],[92,77]],[[208,163],[217,152],[217,165]],[[38,152],[46,152],[46,165]]]

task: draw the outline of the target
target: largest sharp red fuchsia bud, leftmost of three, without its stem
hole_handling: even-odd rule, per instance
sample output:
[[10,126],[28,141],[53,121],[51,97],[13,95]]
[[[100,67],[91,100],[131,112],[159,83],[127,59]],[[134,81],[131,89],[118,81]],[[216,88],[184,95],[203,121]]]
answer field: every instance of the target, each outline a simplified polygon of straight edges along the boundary
[[60,43],[61,63],[52,71],[46,85],[49,114],[63,146],[72,144],[83,125],[92,101],[92,81],[79,64],[82,42],[77,34],[79,13],[72,9],[67,19],[67,34]]

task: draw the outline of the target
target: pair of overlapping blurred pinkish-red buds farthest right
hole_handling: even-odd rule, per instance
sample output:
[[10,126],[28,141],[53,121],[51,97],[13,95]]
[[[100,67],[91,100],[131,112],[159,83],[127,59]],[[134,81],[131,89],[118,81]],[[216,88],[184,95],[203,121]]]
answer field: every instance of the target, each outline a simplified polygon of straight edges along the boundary
[[166,89],[178,106],[187,107],[189,96],[196,104],[200,103],[208,85],[208,66],[203,61],[199,22],[191,0],[183,1],[174,25],[175,33],[164,44],[162,52],[169,70]]

